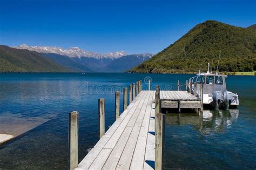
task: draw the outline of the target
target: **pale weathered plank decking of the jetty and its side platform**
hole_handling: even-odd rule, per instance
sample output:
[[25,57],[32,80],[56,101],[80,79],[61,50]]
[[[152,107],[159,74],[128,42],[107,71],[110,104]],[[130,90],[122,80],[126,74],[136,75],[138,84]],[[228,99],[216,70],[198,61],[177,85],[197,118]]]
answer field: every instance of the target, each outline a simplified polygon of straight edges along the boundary
[[[76,169],[154,169],[154,97],[141,91]],[[160,99],[200,101],[186,91],[160,91]]]

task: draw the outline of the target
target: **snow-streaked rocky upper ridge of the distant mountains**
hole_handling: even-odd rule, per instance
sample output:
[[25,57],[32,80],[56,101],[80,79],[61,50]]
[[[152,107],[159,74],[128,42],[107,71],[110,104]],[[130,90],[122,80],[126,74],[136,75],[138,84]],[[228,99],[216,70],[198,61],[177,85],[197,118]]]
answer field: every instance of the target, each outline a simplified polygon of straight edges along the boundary
[[62,56],[68,56],[72,58],[81,58],[81,57],[89,57],[89,58],[111,58],[116,59],[122,56],[126,56],[127,54],[124,51],[117,52],[109,52],[109,53],[98,53],[91,52],[79,49],[79,47],[71,47],[70,49],[63,49],[62,47],[57,46],[29,46],[26,44],[22,44],[19,46],[15,46],[16,49],[26,49],[30,51],[36,51],[41,53],[55,53]]

